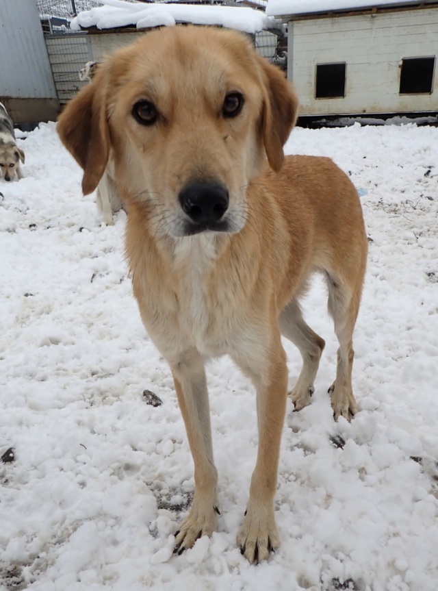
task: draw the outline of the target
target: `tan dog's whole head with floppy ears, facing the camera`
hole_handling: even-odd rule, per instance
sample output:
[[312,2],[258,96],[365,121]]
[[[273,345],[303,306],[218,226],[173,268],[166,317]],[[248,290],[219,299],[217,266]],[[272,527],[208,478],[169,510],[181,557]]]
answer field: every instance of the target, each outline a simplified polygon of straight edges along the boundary
[[179,237],[242,229],[248,183],[266,157],[280,170],[297,108],[283,73],[244,35],[169,27],[101,64],[57,129],[84,194],[111,153],[123,199],[149,208],[153,231]]

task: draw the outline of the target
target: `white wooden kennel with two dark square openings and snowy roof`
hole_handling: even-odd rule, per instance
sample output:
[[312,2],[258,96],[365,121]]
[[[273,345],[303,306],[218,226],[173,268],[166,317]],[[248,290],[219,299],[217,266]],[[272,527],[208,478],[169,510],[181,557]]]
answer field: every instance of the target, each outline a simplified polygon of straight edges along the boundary
[[437,114],[436,0],[268,0],[301,116]]

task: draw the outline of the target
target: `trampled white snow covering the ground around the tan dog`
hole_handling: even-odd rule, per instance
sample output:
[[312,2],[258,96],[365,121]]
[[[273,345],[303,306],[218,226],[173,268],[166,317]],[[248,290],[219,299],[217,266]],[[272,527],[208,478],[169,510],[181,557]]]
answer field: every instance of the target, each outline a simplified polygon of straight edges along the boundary
[[[438,129],[295,129],[287,143],[331,155],[361,194],[360,412],[333,422],[337,344],[317,281],[307,318],[326,350],[312,404],[288,403],[283,543],[258,566],[235,544],[257,446],[250,383],[228,358],[208,368],[222,515],[211,539],[174,556],[192,458],[131,294],[125,214],[101,223],[53,123],[18,143],[26,177],[0,180],[1,590],[436,591]],[[292,385],[300,357],[285,348]]]

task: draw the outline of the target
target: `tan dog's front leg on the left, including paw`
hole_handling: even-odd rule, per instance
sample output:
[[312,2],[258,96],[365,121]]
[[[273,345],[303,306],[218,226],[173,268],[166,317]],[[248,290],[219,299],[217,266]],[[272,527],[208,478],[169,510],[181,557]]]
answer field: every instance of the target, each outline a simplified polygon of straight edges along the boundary
[[175,534],[175,552],[191,548],[201,536],[216,529],[218,510],[218,473],[213,461],[210,412],[204,360],[198,351],[185,353],[170,364],[185,430],[194,461],[194,498],[190,514]]

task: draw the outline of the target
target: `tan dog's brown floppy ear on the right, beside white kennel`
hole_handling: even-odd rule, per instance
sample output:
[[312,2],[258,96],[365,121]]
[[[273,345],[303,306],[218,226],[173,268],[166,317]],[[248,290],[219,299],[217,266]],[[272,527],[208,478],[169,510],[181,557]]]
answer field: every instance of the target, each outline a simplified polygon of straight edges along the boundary
[[263,143],[270,167],[278,172],[283,164],[283,146],[298,115],[298,97],[283,72],[259,58],[266,95],[263,101]]

